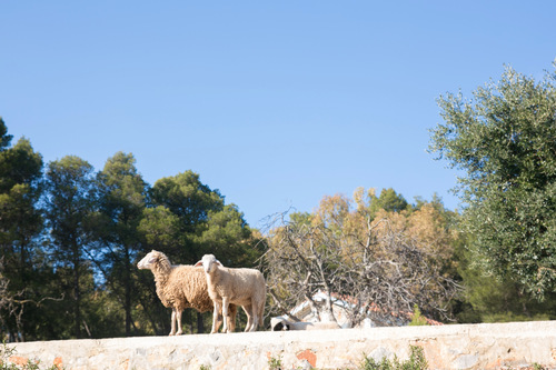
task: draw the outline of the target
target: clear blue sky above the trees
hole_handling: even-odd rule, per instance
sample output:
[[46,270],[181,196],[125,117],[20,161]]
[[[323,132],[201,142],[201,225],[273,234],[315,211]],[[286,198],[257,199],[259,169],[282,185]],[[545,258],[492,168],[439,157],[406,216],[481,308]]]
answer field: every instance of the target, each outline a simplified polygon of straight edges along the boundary
[[556,1],[0,0],[0,116],[46,162],[186,170],[252,227],[324,196],[437,192],[437,98],[554,71]]

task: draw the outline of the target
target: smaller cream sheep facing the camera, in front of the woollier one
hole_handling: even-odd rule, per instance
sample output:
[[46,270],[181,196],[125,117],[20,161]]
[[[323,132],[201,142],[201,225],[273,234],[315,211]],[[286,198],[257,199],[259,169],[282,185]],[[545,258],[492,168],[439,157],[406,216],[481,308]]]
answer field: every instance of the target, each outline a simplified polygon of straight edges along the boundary
[[[207,277],[208,292],[215,304],[211,333],[218,331],[218,310],[227,319],[228,304],[238,304],[247,314],[245,331],[255,331],[262,323],[267,287],[265,278],[256,269],[231,269],[224,267],[214,254],[205,254],[195,266],[202,266]],[[230,332],[227,320],[224,321],[224,332]]]

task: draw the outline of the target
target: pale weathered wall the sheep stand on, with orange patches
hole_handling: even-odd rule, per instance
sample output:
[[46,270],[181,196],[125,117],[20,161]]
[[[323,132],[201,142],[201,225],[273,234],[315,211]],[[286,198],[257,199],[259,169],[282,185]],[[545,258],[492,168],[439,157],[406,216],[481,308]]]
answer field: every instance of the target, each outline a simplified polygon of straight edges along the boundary
[[[16,343],[12,362],[96,369],[357,369],[364,356],[407,359],[424,349],[430,369],[556,369],[556,321],[338,329]],[[533,369],[533,368],[530,368]]]

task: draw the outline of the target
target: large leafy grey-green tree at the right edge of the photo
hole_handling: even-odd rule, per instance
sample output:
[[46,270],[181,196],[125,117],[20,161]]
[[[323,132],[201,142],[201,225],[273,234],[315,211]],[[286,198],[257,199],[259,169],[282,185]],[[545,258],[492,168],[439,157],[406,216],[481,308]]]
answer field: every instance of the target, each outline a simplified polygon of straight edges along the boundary
[[539,300],[556,292],[556,84],[507,68],[497,82],[440,97],[429,150],[463,174],[476,261]]

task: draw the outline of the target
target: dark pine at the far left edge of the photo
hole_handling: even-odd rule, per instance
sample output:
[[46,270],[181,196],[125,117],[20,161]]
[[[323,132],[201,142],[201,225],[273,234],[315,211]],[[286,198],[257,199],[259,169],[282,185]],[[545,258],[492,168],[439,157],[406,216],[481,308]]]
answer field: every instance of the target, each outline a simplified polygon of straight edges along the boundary
[[37,302],[47,296],[40,269],[46,260],[39,241],[42,218],[38,207],[42,157],[24,138],[10,148],[11,139],[0,118],[0,274],[7,294],[24,302],[12,300],[9,310],[0,307],[0,333],[7,331],[12,340],[26,340],[28,334],[33,338],[32,322],[40,316]]

